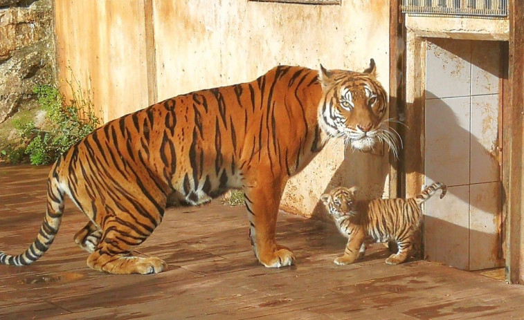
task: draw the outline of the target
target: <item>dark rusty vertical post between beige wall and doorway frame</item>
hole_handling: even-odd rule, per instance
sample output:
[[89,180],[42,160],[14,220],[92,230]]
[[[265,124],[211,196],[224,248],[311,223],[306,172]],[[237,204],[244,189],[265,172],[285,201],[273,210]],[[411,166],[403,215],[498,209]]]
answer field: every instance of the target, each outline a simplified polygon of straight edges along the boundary
[[[399,106],[402,102],[402,58],[403,58],[403,47],[404,41],[403,36],[403,24],[401,23],[401,12],[400,12],[401,0],[390,0],[390,43],[389,43],[389,117],[391,119],[399,120]],[[390,122],[390,127],[401,132],[399,124]],[[399,164],[401,163],[403,152],[399,151],[398,158],[390,153],[390,171],[389,171],[389,196],[390,197],[401,197],[402,192],[402,177],[401,170],[399,170]]]

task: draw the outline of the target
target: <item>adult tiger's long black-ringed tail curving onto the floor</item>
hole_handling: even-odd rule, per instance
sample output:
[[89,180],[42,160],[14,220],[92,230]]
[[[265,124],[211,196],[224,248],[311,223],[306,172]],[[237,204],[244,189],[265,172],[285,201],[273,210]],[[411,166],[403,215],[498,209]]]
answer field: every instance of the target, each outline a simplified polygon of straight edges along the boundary
[[28,249],[17,256],[11,256],[0,252],[0,264],[2,265],[29,265],[37,261],[49,249],[62,222],[64,211],[64,191],[60,189],[55,176],[55,169],[51,171],[47,180],[47,209],[44,222],[35,241]]

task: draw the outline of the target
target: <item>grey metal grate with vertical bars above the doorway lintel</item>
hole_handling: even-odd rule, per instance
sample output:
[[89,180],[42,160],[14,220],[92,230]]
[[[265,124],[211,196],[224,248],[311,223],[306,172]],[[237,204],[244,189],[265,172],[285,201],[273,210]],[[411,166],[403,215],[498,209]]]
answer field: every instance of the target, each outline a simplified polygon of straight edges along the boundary
[[507,17],[507,0],[402,0],[402,12],[416,15]]

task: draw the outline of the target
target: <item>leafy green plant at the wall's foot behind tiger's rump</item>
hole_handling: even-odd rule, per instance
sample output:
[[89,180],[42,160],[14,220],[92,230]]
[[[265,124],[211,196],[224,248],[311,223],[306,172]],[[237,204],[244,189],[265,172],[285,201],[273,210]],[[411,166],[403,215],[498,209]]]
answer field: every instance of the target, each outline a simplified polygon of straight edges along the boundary
[[[74,78],[73,78],[74,79]],[[64,97],[55,86],[36,86],[33,92],[42,110],[46,111],[48,122],[37,128],[33,121],[14,122],[15,129],[21,138],[20,147],[7,147],[0,152],[1,158],[9,162],[24,161],[24,155],[31,164],[48,164],[67,151],[78,140],[91,133],[100,120],[93,110],[93,102],[84,97],[80,83],[67,82],[73,99],[64,102]]]

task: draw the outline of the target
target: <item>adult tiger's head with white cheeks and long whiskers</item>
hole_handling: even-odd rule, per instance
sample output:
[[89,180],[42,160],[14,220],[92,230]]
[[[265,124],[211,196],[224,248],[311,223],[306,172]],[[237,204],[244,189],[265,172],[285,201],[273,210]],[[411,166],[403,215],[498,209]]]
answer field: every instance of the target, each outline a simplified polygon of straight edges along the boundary
[[377,142],[386,142],[397,155],[397,135],[383,122],[388,98],[375,71],[373,59],[362,73],[326,70],[320,65],[323,100],[318,120],[328,135],[342,138],[353,149],[370,151]]

